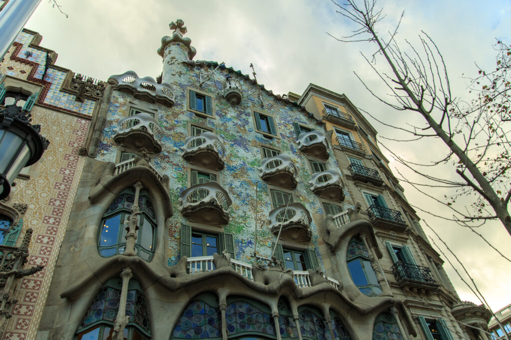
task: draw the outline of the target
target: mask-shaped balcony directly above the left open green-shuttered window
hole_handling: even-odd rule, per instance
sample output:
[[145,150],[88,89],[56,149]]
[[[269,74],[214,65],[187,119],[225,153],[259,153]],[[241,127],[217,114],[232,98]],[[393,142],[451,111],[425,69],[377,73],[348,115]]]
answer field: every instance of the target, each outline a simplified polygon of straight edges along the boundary
[[215,181],[196,184],[183,192],[179,198],[179,210],[192,222],[223,226],[229,222],[231,200],[227,191]]

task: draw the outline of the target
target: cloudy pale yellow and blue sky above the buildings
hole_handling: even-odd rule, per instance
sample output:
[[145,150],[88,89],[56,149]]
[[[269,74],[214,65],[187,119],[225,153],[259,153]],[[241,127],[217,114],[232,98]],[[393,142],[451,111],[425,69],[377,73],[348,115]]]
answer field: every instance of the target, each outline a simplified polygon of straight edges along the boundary
[[[341,37],[354,29],[352,23],[336,13],[331,1],[57,0],[57,3],[68,18],[53,7],[51,1],[43,0],[26,28],[39,32],[43,37],[40,45],[59,55],[57,65],[88,77],[106,81],[111,75],[134,70],[140,77],[156,78],[161,72],[161,57],[156,54],[160,40],[171,35],[170,22],[183,19],[188,28],[185,36],[192,39],[192,46],[197,49],[195,60],[223,61],[244,74],[251,74],[249,65],[253,63],[258,82],[274,93],[301,94],[313,83],[344,93],[356,106],[385,122],[420,122],[410,113],[386,107],[357,79],[354,72],[369,88],[385,93],[382,83],[361,56],[361,53],[372,55],[375,47],[364,42],[338,42],[327,34]],[[468,98],[468,83],[463,74],[475,76],[475,63],[486,69],[494,67],[496,39],[511,44],[510,0],[380,0],[380,5],[387,14],[381,22],[382,33],[391,30],[404,11],[398,41],[403,44],[406,39],[416,43],[421,30],[435,41],[457,98]],[[396,137],[394,130],[370,117],[367,119],[379,136]],[[391,143],[383,138],[380,141],[411,161],[444,154],[442,145],[434,141],[427,144]],[[410,181],[419,180],[388,152],[384,154],[392,169],[398,167]],[[450,167],[438,167],[433,172],[449,177],[453,171]],[[394,174],[398,175],[395,171]],[[448,213],[406,183],[401,184],[412,205],[435,214]],[[433,193],[442,198],[445,192],[435,190]],[[493,310],[511,303],[511,262],[467,228],[422,211],[417,213],[460,259]],[[421,224],[446,252],[425,223]],[[500,223],[487,223],[478,232],[511,258],[511,236]],[[450,253],[446,254],[455,261]],[[458,264],[455,267],[462,272]],[[447,261],[445,268],[460,299],[479,304]],[[469,280],[466,276],[463,278]]]

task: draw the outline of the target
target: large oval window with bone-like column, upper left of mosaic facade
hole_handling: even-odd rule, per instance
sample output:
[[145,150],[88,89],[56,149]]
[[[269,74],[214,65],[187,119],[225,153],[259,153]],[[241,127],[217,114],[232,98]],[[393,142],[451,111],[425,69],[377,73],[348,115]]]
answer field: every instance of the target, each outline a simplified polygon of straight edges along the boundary
[[[98,250],[101,256],[110,257],[122,254],[126,247],[126,234],[128,227],[128,216],[131,215],[131,207],[135,200],[135,189],[124,190],[110,207],[106,210],[98,238]],[[142,214],[138,215],[138,230],[135,251],[144,260],[150,260],[154,254],[156,215],[147,190],[140,190],[138,197],[138,208]]]

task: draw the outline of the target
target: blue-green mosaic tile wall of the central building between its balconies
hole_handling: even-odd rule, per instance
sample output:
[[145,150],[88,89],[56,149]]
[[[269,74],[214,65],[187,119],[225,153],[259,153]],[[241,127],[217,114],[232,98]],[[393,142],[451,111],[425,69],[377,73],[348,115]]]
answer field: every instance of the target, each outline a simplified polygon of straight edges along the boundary
[[[187,172],[189,166],[181,157],[180,147],[188,136],[189,122],[202,124],[216,130],[216,135],[226,148],[225,169],[221,171],[220,184],[229,193],[233,204],[230,207],[230,222],[225,226],[226,232],[235,234],[236,259],[250,261],[253,255],[255,242],[255,185],[258,186],[257,197],[257,224],[258,224],[258,255],[269,257],[274,240],[268,228],[267,216],[271,210],[268,186],[259,176],[261,166],[260,145],[268,145],[280,149],[282,154],[291,156],[299,170],[298,185],[293,190],[295,202],[304,204],[311,213],[322,214],[322,206],[319,199],[310,190],[308,181],[311,179],[311,171],[305,155],[297,148],[296,133],[293,123],[322,129],[317,126],[316,120],[307,118],[299,107],[292,103],[286,104],[275,100],[265,91],[262,92],[264,107],[262,107],[256,86],[251,85],[243,77],[242,89],[244,99],[241,104],[233,106],[223,99],[222,79],[230,75],[226,69],[217,70],[215,80],[206,81],[201,90],[214,96],[216,118],[200,118],[187,110],[187,87],[199,88],[199,71],[211,69],[189,67],[184,64],[174,64],[176,69],[168,70],[175,74],[171,77],[171,85],[175,93],[175,105],[172,108],[158,106],[158,124],[164,130],[162,138],[162,152],[156,156],[154,163],[161,174],[170,178],[170,195],[173,201],[173,209],[178,212],[178,198],[187,188]],[[165,71],[164,71],[165,74]],[[103,136],[99,145],[97,160],[115,162],[117,146],[113,141],[115,129],[122,117],[128,116],[130,111],[129,101],[131,96],[119,91],[113,91],[108,108]],[[268,139],[254,130],[251,108],[266,111],[275,116],[278,137]],[[327,168],[338,168],[335,157],[326,161]],[[349,193],[342,204],[344,209],[353,206]],[[179,259],[180,225],[183,218],[180,213],[174,213],[171,218],[169,230],[169,265],[175,264]],[[318,235],[316,226],[311,224],[312,248],[316,250],[320,258],[317,242]]]

